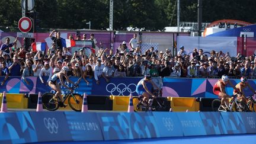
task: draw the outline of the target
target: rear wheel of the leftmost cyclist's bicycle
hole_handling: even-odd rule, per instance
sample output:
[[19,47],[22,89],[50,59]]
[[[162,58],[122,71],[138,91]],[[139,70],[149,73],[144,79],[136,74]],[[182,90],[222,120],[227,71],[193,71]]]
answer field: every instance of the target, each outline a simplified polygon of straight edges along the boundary
[[49,111],[55,111],[59,108],[59,103],[53,100],[55,94],[51,92],[46,92],[42,95],[43,107]]

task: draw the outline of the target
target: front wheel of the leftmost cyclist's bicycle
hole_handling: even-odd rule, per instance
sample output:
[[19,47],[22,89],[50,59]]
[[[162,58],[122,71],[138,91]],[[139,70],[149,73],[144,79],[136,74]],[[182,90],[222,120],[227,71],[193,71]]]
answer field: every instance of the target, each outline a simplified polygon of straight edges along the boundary
[[84,101],[84,97],[82,97],[82,95],[79,95],[79,94],[69,95],[69,98],[68,98],[69,106],[74,111],[82,111],[83,101]]

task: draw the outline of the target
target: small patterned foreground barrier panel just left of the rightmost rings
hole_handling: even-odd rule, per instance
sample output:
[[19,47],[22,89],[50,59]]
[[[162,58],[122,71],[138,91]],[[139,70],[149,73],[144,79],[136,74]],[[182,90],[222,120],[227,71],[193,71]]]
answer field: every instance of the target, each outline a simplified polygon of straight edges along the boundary
[[243,134],[246,133],[244,121],[241,115],[233,113],[220,113],[225,123],[228,134]]

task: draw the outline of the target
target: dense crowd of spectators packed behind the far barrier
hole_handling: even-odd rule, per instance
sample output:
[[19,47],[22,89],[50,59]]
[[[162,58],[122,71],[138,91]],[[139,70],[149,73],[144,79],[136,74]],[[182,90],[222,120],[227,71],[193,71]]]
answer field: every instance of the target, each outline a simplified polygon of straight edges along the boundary
[[[55,36],[52,36],[55,33]],[[88,78],[94,78],[97,84],[103,78],[109,82],[112,77],[126,76],[170,76],[174,78],[219,78],[222,75],[231,78],[256,76],[256,56],[244,57],[240,53],[236,57],[229,56],[229,53],[215,52],[204,55],[203,49],[194,48],[191,55],[181,46],[176,56],[172,56],[171,50],[158,52],[154,47],[142,53],[140,50],[141,41],[134,34],[127,47],[125,41],[120,44],[114,52],[113,49],[95,47],[96,52],[85,55],[84,49],[71,53],[69,47],[62,47],[60,32],[52,31],[49,37],[53,40],[52,46],[47,52],[31,52],[24,47],[17,47],[15,39],[10,43],[7,37],[6,42],[0,48],[0,76],[5,76],[1,85],[5,84],[8,76],[22,76],[29,84],[27,76],[39,76],[43,84],[48,84],[50,77],[59,72],[63,66],[68,66],[69,76],[79,78],[89,84]],[[69,39],[74,39],[69,36]],[[89,39],[83,34],[82,39],[77,36],[75,40],[93,40],[97,44],[94,34]],[[198,52],[197,52],[198,51]],[[43,76],[49,76],[44,81]]]

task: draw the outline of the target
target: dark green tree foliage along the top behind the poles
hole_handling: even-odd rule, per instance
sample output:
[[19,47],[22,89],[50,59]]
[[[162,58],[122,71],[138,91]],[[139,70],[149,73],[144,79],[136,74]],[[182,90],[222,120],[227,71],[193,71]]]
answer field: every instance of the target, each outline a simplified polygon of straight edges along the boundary
[[[105,30],[109,25],[110,0],[36,0],[41,28]],[[203,22],[234,19],[255,23],[255,0],[202,0]],[[0,1],[0,26],[17,27],[21,18],[21,0]],[[177,0],[114,0],[114,30],[145,27],[162,30],[177,25]],[[197,21],[197,0],[180,0],[180,21]]]

